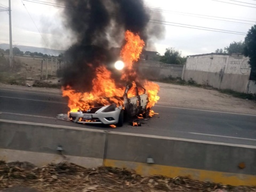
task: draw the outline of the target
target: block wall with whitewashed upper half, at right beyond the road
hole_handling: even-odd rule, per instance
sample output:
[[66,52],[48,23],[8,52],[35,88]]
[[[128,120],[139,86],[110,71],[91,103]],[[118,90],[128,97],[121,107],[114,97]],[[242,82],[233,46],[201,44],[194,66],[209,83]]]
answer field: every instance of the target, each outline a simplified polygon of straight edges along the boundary
[[205,54],[187,59],[183,78],[218,89],[246,92],[251,68],[243,55]]

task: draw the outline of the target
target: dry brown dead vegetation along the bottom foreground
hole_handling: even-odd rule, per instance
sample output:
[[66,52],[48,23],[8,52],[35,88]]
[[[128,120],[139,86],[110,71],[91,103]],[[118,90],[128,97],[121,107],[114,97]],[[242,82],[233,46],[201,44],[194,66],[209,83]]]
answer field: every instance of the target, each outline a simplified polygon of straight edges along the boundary
[[38,191],[256,191],[256,187],[232,187],[184,177],[141,175],[113,167],[85,169],[62,162],[36,167],[28,162],[0,162],[0,190],[15,186]]

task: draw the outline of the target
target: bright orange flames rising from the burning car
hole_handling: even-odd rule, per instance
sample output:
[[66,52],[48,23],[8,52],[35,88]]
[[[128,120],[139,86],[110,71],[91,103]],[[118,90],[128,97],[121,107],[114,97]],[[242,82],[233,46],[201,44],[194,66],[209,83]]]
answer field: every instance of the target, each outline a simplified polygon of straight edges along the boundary
[[[125,63],[121,79],[123,82],[132,81],[133,86],[129,91],[128,97],[135,95],[133,95],[135,90],[134,81],[139,82],[145,87],[149,97],[147,108],[150,109],[159,100],[157,95],[159,86],[153,82],[140,79],[133,67],[140,58],[145,42],[143,42],[138,34],[134,34],[129,30],[125,33],[125,41],[126,43],[120,53]],[[87,65],[90,67],[90,64]],[[95,106],[110,105],[111,103],[116,103],[117,106],[124,106],[122,97],[125,86],[118,86],[119,83],[111,78],[111,71],[106,68],[105,63],[102,63],[95,70],[96,73],[92,79],[92,89],[90,92],[77,92],[70,85],[62,87],[63,97],[69,98],[68,107],[70,111],[85,111]]]

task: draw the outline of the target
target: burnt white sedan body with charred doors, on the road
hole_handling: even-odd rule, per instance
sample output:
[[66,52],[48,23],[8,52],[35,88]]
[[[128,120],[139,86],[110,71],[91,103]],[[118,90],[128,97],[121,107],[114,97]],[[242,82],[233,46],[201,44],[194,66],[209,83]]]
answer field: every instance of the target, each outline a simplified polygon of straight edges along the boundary
[[139,83],[127,85],[121,99],[123,99],[124,106],[116,106],[115,103],[112,103],[86,111],[69,112],[68,116],[75,123],[114,124],[117,126],[123,126],[125,115],[129,117],[140,114],[147,116],[149,112],[149,109],[147,109],[148,94]]

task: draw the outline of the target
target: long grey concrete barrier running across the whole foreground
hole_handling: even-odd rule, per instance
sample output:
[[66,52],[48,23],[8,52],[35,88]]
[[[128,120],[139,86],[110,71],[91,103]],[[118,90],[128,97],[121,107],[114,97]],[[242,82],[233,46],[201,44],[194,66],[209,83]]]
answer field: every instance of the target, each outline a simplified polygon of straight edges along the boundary
[[[157,129],[157,128],[156,128]],[[35,164],[63,159],[85,167],[126,167],[142,175],[256,185],[256,147],[0,119],[0,159]],[[147,158],[154,164],[147,164]],[[242,163],[242,164],[241,164]],[[245,167],[238,165],[245,165]]]

